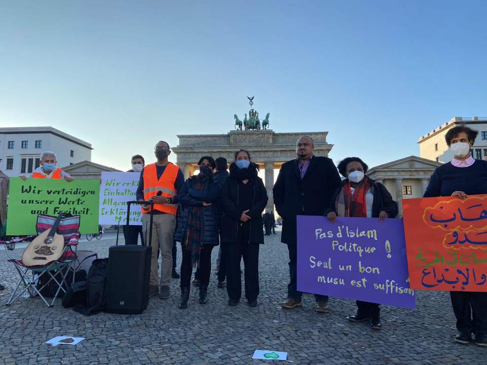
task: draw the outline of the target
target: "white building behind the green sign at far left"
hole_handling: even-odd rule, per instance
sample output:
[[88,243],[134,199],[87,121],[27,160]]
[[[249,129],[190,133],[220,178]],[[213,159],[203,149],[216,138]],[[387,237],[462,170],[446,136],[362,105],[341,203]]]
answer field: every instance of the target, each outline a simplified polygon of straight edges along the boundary
[[57,166],[91,160],[91,144],[52,127],[0,128],[0,170],[19,176],[39,167],[41,154],[52,151]]

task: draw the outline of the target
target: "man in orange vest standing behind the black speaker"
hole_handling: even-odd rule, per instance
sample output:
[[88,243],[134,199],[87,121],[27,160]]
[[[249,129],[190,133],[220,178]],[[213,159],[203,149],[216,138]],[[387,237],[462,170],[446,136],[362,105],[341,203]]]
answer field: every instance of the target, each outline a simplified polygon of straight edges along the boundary
[[[159,293],[160,299],[170,296],[169,285],[172,272],[172,236],[176,227],[177,193],[184,184],[181,169],[167,160],[171,150],[169,144],[159,141],[154,148],[157,162],[146,165],[141,171],[138,182],[137,200],[154,202],[154,222],[152,226],[152,262],[149,296]],[[161,192],[160,195],[157,195]],[[142,206],[142,226],[149,230],[149,205]],[[148,237],[148,233],[147,236]],[[161,251],[161,278],[158,278],[157,252]],[[160,287],[158,286],[160,285]]]

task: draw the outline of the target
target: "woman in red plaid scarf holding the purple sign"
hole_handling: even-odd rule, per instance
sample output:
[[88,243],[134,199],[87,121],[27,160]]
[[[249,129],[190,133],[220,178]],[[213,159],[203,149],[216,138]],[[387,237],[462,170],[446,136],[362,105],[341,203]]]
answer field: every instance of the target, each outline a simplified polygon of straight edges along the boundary
[[[347,157],[338,164],[338,172],[345,177],[341,187],[333,194],[326,216],[331,223],[335,223],[337,216],[386,218],[397,216],[397,203],[380,182],[365,175],[368,166],[358,157]],[[369,320],[370,327],[380,330],[379,305],[356,301],[357,313],[347,317],[351,322]]]

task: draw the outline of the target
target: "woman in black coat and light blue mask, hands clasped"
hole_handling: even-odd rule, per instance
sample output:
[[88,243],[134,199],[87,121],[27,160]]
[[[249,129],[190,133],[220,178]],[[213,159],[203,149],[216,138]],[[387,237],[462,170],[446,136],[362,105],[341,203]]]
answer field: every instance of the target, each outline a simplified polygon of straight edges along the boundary
[[245,266],[245,296],[251,307],[259,295],[259,244],[264,243],[262,211],[267,204],[267,191],[257,176],[258,166],[249,152],[235,153],[230,175],[223,183],[220,199],[223,208],[221,236],[227,247],[228,305],[235,306],[241,297],[240,261]]

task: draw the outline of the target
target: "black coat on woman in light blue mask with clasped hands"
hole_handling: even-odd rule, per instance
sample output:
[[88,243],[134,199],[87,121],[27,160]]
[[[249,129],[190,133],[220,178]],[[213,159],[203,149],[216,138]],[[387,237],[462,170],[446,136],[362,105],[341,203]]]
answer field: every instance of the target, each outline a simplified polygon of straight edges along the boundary
[[[232,176],[230,168],[230,176],[225,179],[223,183],[222,192],[220,194],[220,201],[223,208],[222,217],[222,242],[236,242],[237,231],[240,226],[240,216],[243,209],[238,208],[238,180]],[[252,208],[247,212],[251,217],[250,226],[250,242],[264,244],[264,232],[262,231],[262,210],[267,205],[267,191],[265,190],[262,179],[256,176],[254,179],[249,179],[247,184],[252,184],[254,187],[254,199]]]

